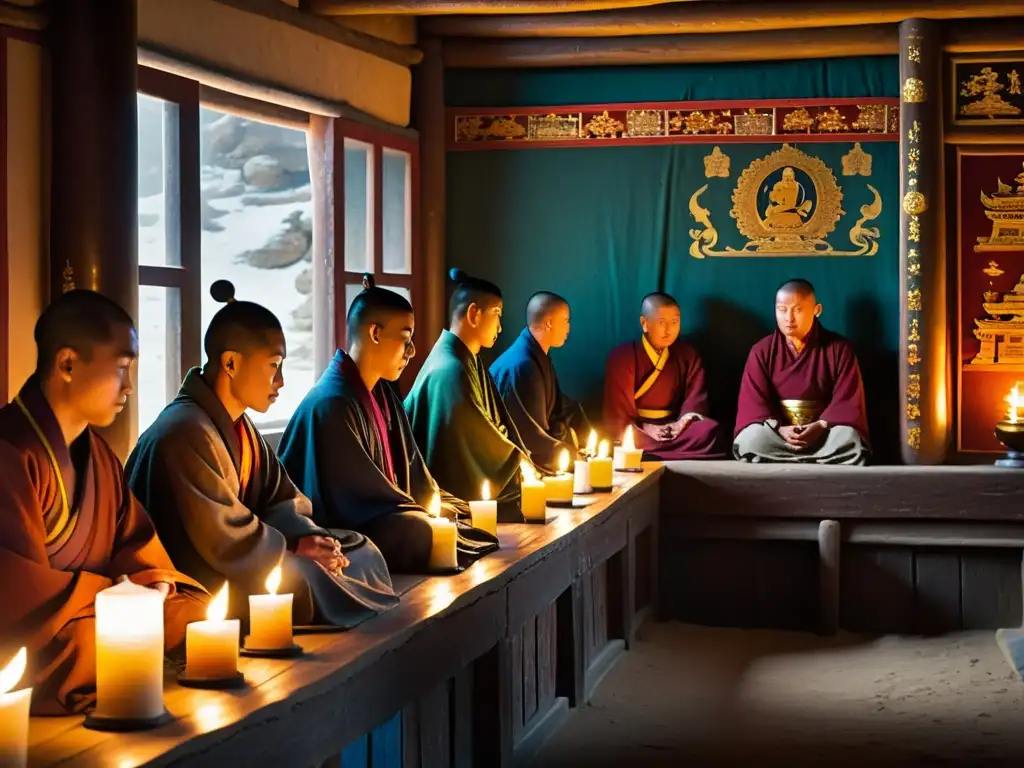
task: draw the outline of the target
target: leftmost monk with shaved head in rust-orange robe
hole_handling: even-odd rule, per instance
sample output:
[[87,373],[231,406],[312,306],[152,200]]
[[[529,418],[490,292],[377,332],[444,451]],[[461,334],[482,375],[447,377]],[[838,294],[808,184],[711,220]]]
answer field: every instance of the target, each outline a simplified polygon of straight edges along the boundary
[[[36,324],[38,361],[0,410],[0,637],[29,651],[32,713],[95,706],[96,593],[122,578],[164,593],[168,649],[206,618],[209,594],[177,572],[125,484],[105,427],[132,390],[138,336],[128,313],[91,291],[53,301]],[[6,653],[5,653],[6,655]]]

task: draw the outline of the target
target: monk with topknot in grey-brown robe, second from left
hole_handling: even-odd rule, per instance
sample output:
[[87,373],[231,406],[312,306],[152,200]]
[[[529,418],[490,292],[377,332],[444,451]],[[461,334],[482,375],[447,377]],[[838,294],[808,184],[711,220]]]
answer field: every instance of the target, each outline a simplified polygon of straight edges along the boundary
[[248,616],[279,564],[296,625],[353,627],[397,603],[384,558],[368,539],[328,530],[266,444],[247,409],[266,413],[284,386],[285,334],[268,309],[227,301],[210,322],[206,365],[139,437],[132,490],[175,561],[211,592],[227,581],[231,615]]

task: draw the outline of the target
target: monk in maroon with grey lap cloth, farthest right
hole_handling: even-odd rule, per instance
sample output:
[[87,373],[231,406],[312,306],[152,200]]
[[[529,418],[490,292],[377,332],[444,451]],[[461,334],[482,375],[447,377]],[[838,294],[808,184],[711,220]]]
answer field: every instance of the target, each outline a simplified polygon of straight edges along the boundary
[[865,464],[864,388],[853,345],[818,322],[806,280],[775,294],[778,325],[751,349],[733,454],[748,462]]

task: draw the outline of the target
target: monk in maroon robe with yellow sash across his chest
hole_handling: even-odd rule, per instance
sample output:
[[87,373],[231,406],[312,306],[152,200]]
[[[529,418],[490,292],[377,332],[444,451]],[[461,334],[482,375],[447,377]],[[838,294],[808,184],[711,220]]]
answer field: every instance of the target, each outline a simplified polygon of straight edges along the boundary
[[708,416],[703,366],[680,340],[679,327],[674,298],[644,298],[643,336],[612,349],[605,365],[604,428],[620,437],[635,426],[634,443],[654,460],[722,459],[718,422]]

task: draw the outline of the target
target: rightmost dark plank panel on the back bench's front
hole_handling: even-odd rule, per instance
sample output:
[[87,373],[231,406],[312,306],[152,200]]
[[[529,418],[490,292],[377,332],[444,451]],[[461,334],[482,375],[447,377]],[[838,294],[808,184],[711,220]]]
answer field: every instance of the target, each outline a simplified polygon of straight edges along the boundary
[[965,630],[1021,625],[1019,552],[968,551],[961,555],[961,621]]

